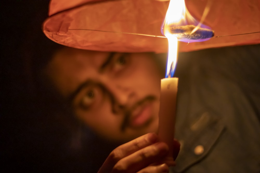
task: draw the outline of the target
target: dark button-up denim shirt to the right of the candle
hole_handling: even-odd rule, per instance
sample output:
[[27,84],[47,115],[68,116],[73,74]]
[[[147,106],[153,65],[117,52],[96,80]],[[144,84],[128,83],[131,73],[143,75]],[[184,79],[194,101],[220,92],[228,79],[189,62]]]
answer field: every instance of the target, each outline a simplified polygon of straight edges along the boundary
[[260,45],[182,53],[171,172],[260,172]]

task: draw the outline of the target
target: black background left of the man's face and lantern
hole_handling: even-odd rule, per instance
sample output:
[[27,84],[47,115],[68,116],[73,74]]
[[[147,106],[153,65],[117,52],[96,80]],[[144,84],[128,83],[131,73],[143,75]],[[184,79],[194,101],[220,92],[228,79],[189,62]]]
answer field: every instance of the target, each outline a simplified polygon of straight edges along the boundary
[[114,146],[104,145],[69,115],[66,119],[60,98],[40,79],[61,47],[41,30],[48,4],[1,2],[1,172],[97,172]]

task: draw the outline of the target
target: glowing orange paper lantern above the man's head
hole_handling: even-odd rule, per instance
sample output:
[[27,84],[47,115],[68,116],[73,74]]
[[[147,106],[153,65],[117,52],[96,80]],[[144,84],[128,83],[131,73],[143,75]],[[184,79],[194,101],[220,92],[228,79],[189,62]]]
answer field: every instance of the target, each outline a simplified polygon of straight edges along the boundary
[[[50,17],[43,23],[43,32],[56,43],[79,49],[167,52],[168,41],[163,38],[161,25],[168,3],[156,0],[52,0]],[[207,1],[186,0],[185,3],[199,21]],[[260,1],[212,1],[209,8],[203,24],[211,27],[215,36],[203,42],[180,42],[179,52],[260,43]]]

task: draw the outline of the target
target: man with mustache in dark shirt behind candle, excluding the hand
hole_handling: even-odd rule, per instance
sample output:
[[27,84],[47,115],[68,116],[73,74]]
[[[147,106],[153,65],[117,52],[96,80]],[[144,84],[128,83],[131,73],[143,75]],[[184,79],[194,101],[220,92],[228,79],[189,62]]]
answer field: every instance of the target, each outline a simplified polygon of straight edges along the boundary
[[[259,172],[258,50],[179,55],[175,131],[182,147],[173,171]],[[127,142],[157,132],[164,69],[154,57],[67,48],[55,54],[47,73],[83,124],[109,141]]]

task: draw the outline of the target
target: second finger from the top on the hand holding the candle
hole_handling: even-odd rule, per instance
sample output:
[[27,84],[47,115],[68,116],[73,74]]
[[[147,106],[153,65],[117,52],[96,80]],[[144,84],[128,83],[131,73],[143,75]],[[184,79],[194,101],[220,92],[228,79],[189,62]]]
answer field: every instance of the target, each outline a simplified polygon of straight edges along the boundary
[[148,165],[162,160],[168,154],[169,147],[164,142],[157,142],[121,159],[112,172],[137,172]]

